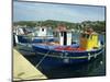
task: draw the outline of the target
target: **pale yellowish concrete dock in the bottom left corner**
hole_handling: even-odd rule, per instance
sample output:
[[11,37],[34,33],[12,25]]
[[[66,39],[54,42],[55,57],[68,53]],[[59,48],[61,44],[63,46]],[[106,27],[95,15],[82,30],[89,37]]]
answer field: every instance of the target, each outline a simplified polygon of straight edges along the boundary
[[18,50],[13,49],[13,81],[47,79]]

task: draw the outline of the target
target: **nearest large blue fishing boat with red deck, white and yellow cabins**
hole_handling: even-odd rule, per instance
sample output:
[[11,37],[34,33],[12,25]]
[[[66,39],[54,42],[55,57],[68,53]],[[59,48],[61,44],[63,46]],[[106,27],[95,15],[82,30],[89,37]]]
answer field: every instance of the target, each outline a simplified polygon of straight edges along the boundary
[[88,28],[80,34],[79,44],[72,42],[72,32],[63,25],[56,31],[58,42],[33,44],[38,63],[36,67],[55,68],[65,65],[88,62],[103,52],[99,34]]

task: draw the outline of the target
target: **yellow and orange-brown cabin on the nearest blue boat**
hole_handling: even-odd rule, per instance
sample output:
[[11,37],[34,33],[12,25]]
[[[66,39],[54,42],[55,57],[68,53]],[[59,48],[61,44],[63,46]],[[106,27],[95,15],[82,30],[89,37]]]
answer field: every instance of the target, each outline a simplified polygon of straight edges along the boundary
[[98,48],[99,46],[99,35],[96,32],[87,31],[81,34],[80,48],[91,50]]

